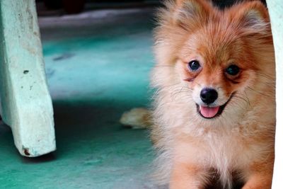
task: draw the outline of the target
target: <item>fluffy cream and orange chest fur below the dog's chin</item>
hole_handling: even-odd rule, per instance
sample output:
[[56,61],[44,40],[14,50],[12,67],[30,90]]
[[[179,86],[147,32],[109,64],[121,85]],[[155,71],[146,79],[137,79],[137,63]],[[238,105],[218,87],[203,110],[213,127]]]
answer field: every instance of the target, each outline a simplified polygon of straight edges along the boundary
[[156,173],[161,184],[168,183],[174,162],[200,164],[207,169],[203,181],[216,173],[221,183],[228,186],[234,173],[241,181],[247,181],[249,168],[255,162],[272,166],[275,115],[266,102],[241,113],[238,120],[207,123],[195,113],[195,106],[188,108],[170,98],[167,103],[159,103],[155,111],[156,124],[163,127],[153,128],[159,149]]

